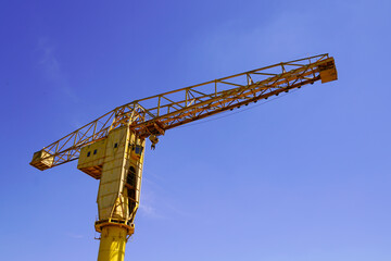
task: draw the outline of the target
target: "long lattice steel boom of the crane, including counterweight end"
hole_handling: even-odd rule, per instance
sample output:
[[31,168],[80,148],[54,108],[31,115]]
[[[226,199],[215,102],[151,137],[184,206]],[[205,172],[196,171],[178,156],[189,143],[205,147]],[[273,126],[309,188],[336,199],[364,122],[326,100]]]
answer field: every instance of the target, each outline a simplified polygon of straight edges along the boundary
[[337,79],[335,61],[328,53],[277,63],[135,100],[37,151],[30,164],[43,171],[76,160],[83,147],[108,137],[110,130],[122,126],[129,126],[142,138],[164,135],[166,129],[319,79],[321,83]]

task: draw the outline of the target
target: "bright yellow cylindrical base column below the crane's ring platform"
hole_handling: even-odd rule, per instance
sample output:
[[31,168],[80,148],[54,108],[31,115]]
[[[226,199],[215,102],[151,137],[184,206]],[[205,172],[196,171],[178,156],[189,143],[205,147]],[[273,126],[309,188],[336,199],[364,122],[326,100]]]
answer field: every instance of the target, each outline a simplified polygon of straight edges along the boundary
[[101,233],[98,261],[123,261],[125,258],[127,229],[104,226]]

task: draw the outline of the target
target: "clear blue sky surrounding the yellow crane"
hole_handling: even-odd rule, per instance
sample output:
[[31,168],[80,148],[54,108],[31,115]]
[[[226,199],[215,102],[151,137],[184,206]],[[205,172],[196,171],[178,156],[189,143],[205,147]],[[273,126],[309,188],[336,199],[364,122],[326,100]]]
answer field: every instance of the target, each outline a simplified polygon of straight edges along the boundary
[[329,52],[339,80],[147,150],[126,260],[391,260],[390,1],[0,2],[1,260],[96,260],[98,181],[33,152],[135,99]]

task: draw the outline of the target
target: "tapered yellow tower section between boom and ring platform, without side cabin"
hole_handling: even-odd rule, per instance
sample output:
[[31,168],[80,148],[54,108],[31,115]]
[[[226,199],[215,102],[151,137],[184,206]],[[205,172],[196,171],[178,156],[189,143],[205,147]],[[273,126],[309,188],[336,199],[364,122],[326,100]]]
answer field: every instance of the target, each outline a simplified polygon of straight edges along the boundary
[[144,140],[128,127],[113,129],[106,139],[97,199],[99,220],[133,223],[140,198]]

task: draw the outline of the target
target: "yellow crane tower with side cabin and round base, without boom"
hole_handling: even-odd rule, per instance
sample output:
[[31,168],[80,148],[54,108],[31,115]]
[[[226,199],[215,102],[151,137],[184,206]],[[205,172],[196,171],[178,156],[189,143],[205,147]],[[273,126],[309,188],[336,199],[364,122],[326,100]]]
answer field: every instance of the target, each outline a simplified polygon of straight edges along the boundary
[[80,150],[77,167],[100,179],[94,225],[101,233],[98,261],[124,260],[140,200],[144,144],[144,138],[123,126]]

